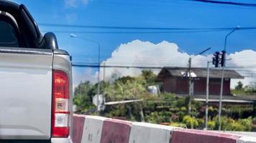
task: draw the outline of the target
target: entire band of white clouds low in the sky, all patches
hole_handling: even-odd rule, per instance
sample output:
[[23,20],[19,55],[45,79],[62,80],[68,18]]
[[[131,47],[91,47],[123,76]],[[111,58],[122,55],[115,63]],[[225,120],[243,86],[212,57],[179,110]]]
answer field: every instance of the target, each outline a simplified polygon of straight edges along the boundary
[[[127,44],[121,44],[114,50],[109,59],[101,63],[101,66],[188,66],[188,59],[191,55],[184,51],[179,51],[178,45],[168,41],[162,41],[158,44],[153,44],[150,41],[134,40]],[[211,60],[211,55],[193,56],[193,67],[206,67],[206,61]],[[245,79],[232,79],[231,87],[238,81],[242,81],[244,85],[254,82],[255,79],[247,77],[248,73],[256,74],[256,51],[243,50],[237,51],[234,54],[229,54],[227,66],[237,70]],[[254,68],[255,67],[255,68]],[[136,76],[141,73],[142,69],[133,68],[101,68],[101,80],[114,80],[122,76]],[[160,69],[152,69],[155,74],[158,74]],[[79,73],[78,73],[79,74]],[[92,71],[85,71],[82,74],[75,75],[83,80],[92,80],[96,82],[97,74]],[[83,76],[82,76],[83,75]],[[87,79],[86,79],[87,78]],[[80,81],[78,81],[79,83]]]

